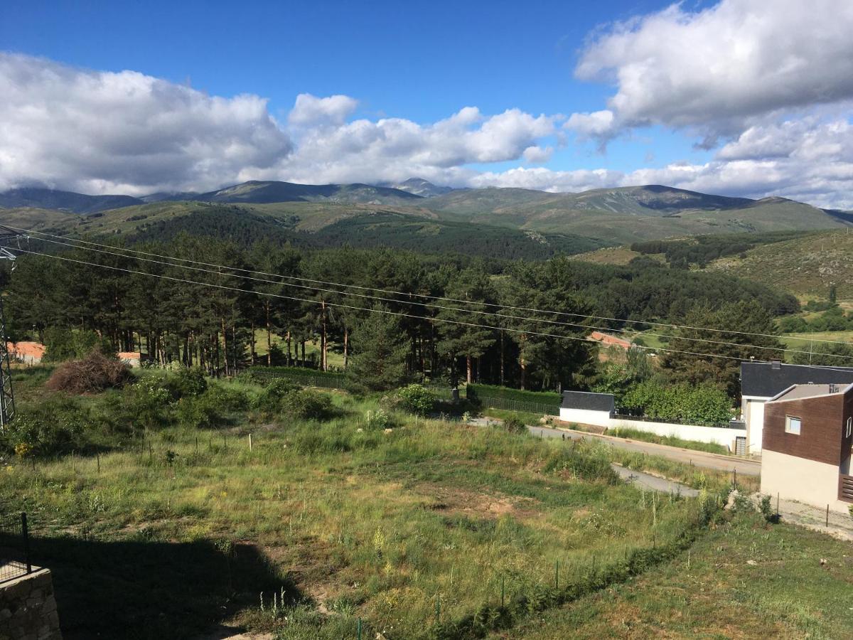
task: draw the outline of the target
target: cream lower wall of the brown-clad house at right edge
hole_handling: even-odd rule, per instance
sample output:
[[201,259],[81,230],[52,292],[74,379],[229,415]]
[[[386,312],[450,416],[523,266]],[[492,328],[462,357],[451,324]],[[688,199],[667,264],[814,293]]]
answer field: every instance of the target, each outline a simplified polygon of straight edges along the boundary
[[848,513],[849,503],[838,500],[838,474],[834,464],[818,463],[779,451],[761,456],[761,492],[786,500],[797,500],[819,509]]

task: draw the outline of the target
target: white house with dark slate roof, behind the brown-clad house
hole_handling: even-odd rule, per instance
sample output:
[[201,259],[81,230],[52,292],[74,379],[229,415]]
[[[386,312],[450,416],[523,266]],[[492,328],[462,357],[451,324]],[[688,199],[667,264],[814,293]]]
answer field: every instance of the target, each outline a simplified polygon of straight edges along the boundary
[[740,364],[740,411],[746,422],[746,450],[761,453],[764,405],[792,385],[853,383],[853,369],[804,364],[745,362]]

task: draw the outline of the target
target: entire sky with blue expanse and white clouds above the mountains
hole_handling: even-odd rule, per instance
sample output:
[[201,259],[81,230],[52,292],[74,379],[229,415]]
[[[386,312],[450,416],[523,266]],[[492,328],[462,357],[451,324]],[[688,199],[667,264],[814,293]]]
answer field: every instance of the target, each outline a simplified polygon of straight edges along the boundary
[[0,3],[0,189],[249,179],[853,208],[853,3]]

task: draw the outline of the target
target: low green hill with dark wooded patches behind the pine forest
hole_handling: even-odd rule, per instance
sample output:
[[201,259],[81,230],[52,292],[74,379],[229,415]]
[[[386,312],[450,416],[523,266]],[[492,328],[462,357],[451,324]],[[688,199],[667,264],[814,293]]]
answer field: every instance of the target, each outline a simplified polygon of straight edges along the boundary
[[[33,226],[33,215],[44,218],[44,222]],[[160,201],[87,216],[0,209],[0,224],[4,222],[57,234],[121,235],[131,241],[166,240],[189,232],[230,238],[244,245],[265,238],[299,247],[381,246],[505,259],[545,259],[586,252],[605,244],[571,234],[441,220],[426,210],[328,202],[247,205]]]

